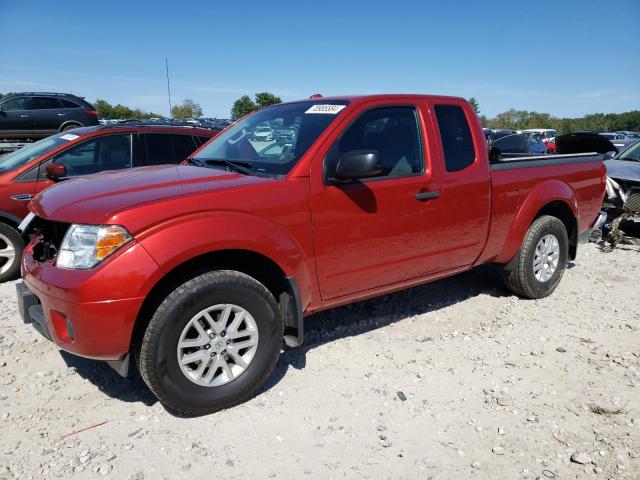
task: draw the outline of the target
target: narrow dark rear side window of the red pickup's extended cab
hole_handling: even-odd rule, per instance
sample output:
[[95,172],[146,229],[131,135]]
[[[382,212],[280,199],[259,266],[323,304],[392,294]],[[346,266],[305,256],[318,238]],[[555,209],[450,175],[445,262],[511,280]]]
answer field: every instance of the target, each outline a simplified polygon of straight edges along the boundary
[[440,129],[447,172],[464,170],[476,158],[471,130],[464,110],[458,105],[436,105],[434,110]]

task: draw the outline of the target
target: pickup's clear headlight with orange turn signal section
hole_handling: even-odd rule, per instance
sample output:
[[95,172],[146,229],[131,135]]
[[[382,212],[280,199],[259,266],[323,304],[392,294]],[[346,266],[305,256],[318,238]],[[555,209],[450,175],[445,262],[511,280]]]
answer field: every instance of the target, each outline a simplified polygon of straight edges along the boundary
[[74,223],[62,240],[56,266],[74,269],[95,267],[129,240],[131,235],[119,225]]

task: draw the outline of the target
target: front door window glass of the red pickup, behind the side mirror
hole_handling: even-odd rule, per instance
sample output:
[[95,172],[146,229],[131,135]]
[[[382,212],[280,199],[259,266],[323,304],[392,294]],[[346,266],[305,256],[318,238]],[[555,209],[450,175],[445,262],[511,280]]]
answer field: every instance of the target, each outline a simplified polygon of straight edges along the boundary
[[423,155],[416,109],[381,107],[367,110],[334,143],[325,159],[327,176],[340,157],[352,150],[376,150],[383,170],[374,178],[406,177],[422,172]]

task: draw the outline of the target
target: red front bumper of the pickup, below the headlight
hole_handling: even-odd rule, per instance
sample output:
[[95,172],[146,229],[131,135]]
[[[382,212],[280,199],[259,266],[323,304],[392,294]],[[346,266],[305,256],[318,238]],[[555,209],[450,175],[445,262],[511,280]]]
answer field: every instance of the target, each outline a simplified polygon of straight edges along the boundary
[[149,254],[133,243],[90,270],[66,270],[38,262],[33,245],[22,257],[16,286],[20,315],[59,348],[110,362],[129,353],[133,327],[145,297],[144,279],[157,273]]

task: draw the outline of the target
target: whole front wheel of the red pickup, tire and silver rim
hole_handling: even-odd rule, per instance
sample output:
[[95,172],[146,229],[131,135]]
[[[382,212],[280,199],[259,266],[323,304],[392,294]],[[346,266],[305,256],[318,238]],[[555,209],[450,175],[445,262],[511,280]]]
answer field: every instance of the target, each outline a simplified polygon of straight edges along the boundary
[[280,355],[283,321],[273,295],[231,270],[180,285],[144,334],[139,368],[170,408],[204,415],[251,398]]

